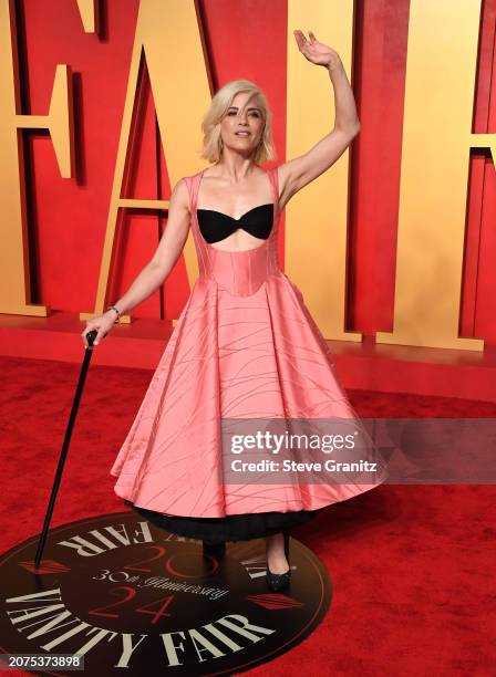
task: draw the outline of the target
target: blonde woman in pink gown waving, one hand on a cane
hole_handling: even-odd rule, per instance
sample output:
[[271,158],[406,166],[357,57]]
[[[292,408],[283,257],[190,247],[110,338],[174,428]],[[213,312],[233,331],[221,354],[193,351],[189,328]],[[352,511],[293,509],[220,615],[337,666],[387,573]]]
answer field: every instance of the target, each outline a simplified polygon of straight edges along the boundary
[[177,183],[152,261],[82,334],[87,345],[86,333],[96,329],[97,345],[122,313],[152,294],[192,225],[200,275],[111,473],[126,504],[169,531],[202,539],[207,552],[266,537],[271,590],[289,583],[290,528],[375,486],[223,483],[219,418],[353,417],[328,345],[277,259],[280,211],[360,129],[339,55],[311,31],[310,41],[299,30],[294,37],[300,52],[329,72],[334,128],[301,157],[266,171],[259,163],[273,152],[264,94],[246,80],[219,90],[203,123],[203,157],[214,165]]

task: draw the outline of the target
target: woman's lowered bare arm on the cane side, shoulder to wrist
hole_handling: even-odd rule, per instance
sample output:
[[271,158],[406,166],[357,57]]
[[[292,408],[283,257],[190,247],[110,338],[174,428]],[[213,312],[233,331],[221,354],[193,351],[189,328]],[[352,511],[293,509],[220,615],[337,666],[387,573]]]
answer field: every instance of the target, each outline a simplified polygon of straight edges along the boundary
[[121,314],[142,303],[163,284],[183,251],[189,220],[188,189],[186,181],[180,179],[170,195],[167,227],[157,250],[126,293],[113,304]]

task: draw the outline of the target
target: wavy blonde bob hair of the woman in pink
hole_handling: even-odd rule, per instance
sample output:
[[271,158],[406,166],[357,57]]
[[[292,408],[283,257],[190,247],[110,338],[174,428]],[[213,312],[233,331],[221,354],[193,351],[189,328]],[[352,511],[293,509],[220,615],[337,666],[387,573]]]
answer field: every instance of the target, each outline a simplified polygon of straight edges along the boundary
[[232,104],[232,100],[240,92],[249,92],[260,106],[265,122],[260,143],[254,153],[254,162],[265,163],[276,158],[276,149],[272,142],[272,115],[264,92],[249,80],[231,80],[218,90],[202,119],[202,132],[204,134],[200,157],[209,163],[219,162],[223,155],[223,138],[220,136],[220,122]]

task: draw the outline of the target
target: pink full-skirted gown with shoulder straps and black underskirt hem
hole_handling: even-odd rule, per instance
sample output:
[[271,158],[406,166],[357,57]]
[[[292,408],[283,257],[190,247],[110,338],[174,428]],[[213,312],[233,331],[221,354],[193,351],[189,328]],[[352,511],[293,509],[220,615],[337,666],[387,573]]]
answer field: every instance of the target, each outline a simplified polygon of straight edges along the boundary
[[[279,265],[277,168],[266,170],[273,204],[240,219],[213,210],[198,210],[198,219],[204,171],[185,177],[199,275],[111,475],[116,494],[155,524],[219,542],[301,524],[386,475],[366,485],[225,481],[221,419],[356,416],[300,290]],[[252,249],[223,251],[203,235],[239,223],[261,232],[267,208],[270,232]]]

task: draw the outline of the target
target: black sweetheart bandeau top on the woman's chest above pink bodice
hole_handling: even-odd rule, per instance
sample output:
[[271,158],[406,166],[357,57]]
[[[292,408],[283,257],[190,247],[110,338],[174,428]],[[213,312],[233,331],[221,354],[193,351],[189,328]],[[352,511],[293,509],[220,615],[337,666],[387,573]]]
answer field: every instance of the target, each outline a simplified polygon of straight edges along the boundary
[[242,228],[256,238],[267,240],[272,230],[273,204],[258,205],[239,219],[214,209],[197,209],[198,226],[205,240],[211,244],[229,237]]

